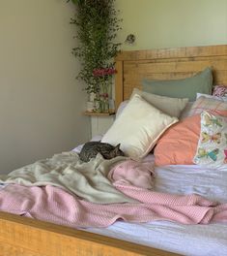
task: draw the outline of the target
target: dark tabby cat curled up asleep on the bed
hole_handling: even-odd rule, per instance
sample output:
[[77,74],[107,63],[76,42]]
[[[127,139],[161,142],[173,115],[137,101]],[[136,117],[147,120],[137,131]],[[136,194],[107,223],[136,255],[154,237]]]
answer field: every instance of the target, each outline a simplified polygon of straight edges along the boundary
[[100,142],[89,142],[83,145],[79,157],[83,162],[89,162],[90,159],[100,153],[105,159],[112,159],[116,156],[124,156],[124,152],[120,149],[120,144],[113,146]]

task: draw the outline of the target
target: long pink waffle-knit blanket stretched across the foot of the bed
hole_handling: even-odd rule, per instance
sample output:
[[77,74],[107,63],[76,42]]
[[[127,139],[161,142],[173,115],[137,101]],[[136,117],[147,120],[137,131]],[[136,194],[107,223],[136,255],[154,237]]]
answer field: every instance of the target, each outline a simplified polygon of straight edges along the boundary
[[70,227],[106,227],[128,222],[170,220],[208,224],[227,220],[227,204],[218,205],[198,195],[176,196],[116,182],[115,186],[139,203],[98,205],[46,185],[8,185],[0,191],[0,210]]

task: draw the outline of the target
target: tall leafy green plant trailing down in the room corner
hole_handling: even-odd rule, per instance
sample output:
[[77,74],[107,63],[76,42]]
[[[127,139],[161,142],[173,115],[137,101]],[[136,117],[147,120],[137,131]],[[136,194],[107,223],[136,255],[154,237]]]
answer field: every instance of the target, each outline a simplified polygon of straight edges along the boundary
[[115,0],[71,0],[76,7],[71,23],[77,27],[78,46],[72,49],[81,62],[77,79],[86,83],[85,90],[99,92],[99,78],[93,71],[114,66],[121,44],[114,43],[121,29],[119,11],[115,10]]

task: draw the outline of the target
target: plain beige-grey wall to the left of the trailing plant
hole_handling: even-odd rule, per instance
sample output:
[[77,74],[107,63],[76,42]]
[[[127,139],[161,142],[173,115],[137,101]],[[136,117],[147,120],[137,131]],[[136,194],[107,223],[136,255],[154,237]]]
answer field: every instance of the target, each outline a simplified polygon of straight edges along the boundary
[[0,173],[88,140],[65,0],[0,1]]

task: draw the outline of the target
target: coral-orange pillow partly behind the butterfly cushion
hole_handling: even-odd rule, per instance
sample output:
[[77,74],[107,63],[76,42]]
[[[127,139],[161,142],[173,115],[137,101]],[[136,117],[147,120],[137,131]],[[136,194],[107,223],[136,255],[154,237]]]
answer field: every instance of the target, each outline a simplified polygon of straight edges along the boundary
[[[227,111],[217,113],[227,116]],[[156,144],[154,152],[156,166],[193,165],[200,127],[200,114],[186,117],[171,126]]]

